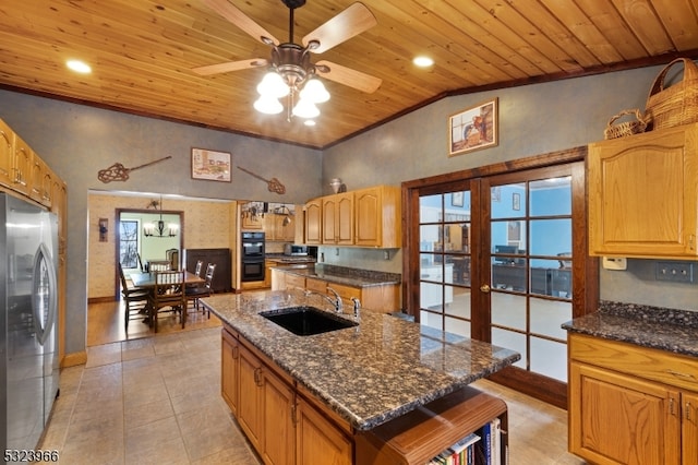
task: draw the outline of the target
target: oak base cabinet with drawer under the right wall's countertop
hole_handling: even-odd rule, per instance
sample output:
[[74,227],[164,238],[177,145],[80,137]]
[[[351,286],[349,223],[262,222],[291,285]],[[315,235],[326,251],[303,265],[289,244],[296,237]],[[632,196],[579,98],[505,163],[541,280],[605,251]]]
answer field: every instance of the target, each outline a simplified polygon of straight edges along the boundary
[[568,342],[571,453],[597,464],[698,463],[698,360],[574,333]]

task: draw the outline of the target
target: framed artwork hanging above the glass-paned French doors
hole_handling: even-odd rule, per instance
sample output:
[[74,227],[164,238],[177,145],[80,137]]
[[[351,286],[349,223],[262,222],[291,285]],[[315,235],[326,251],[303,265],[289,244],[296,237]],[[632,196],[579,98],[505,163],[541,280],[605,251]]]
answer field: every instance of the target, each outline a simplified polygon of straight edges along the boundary
[[497,98],[448,117],[448,156],[498,144]]

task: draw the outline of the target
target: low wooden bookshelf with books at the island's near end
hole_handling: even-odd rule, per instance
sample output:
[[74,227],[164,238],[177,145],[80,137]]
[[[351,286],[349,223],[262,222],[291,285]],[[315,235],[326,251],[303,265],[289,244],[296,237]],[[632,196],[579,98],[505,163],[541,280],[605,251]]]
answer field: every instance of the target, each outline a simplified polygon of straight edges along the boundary
[[466,386],[356,436],[362,465],[508,463],[504,401]]

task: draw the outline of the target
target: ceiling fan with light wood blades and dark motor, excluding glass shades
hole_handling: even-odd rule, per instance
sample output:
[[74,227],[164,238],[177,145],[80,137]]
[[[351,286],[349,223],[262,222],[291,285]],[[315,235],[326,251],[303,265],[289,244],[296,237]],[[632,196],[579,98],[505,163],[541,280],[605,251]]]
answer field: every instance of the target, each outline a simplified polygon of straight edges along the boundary
[[[291,96],[293,93],[300,93],[303,86],[309,87],[306,84],[311,81],[317,81],[313,79],[316,75],[322,75],[330,81],[368,94],[375,92],[383,82],[378,78],[327,60],[320,60],[315,63],[310,60],[310,53],[327,51],[377,24],[373,13],[363,3],[352,3],[349,8],[303,37],[302,45],[299,45],[293,43],[293,10],[305,4],[305,0],[281,0],[290,12],[288,43],[280,43],[228,0],[203,0],[203,2],[255,39],[270,46],[272,57],[269,60],[253,58],[194,68],[192,71],[200,75],[268,67],[274,74],[278,74],[282,79]],[[257,90],[264,96],[262,90],[260,87]],[[324,86],[322,86],[322,91],[327,94]],[[326,95],[326,98],[329,98],[328,95]],[[275,95],[275,98],[278,99],[281,96],[285,95]],[[276,103],[280,106],[278,100]]]

